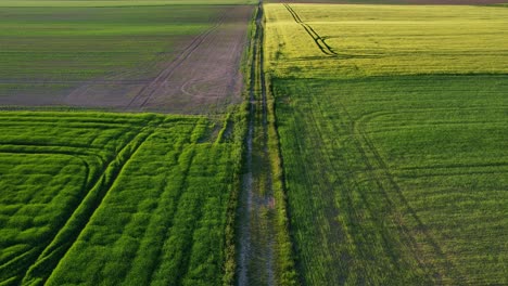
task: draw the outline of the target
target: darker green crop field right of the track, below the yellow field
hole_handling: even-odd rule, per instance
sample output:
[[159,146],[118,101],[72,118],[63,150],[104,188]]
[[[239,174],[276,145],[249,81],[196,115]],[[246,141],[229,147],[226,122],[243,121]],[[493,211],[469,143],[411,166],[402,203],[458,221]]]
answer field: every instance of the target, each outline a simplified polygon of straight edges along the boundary
[[506,282],[505,77],[274,86],[308,284]]

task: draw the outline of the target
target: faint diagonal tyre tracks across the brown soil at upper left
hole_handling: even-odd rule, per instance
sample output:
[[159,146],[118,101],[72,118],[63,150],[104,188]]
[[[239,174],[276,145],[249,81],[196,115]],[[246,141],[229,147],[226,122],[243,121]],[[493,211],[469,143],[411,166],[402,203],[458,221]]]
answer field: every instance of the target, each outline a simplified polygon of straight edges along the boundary
[[127,108],[132,107],[144,107],[150,99],[161,88],[164,88],[164,83],[168,78],[175,73],[175,70],[183,64],[183,62],[194,53],[194,51],[203,43],[213,31],[215,31],[226,18],[226,14],[223,14],[217,23],[212,26],[209,29],[205,30],[201,35],[194,38],[192,42],[175,58],[163,72],[161,72],[154,80],[145,84],[136,96],[127,104]]

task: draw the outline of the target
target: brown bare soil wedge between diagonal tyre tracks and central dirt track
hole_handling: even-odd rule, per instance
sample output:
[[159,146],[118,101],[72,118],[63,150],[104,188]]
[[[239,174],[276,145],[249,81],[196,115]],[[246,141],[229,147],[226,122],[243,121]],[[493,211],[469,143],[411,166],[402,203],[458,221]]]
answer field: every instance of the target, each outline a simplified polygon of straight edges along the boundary
[[241,102],[240,61],[252,6],[233,6],[128,103],[128,108],[208,113]]

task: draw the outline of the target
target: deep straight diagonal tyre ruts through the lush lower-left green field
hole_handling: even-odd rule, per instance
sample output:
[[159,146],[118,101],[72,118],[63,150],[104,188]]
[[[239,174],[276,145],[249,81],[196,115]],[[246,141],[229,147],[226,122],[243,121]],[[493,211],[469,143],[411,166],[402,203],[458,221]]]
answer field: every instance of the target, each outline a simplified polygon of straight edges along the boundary
[[153,123],[154,122],[149,122],[148,126],[126,143],[118,152],[117,156],[109,162],[107,167],[104,168],[102,174],[87,192],[87,195],[71,214],[69,219],[25,272],[22,284],[36,282],[45,283],[51,276],[52,271],[74,245],[78,236],[85,230],[90,218],[100,207],[102,200],[122,173],[126,164],[153,133]]

